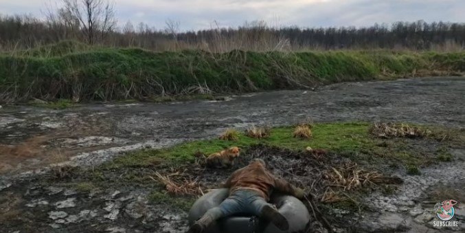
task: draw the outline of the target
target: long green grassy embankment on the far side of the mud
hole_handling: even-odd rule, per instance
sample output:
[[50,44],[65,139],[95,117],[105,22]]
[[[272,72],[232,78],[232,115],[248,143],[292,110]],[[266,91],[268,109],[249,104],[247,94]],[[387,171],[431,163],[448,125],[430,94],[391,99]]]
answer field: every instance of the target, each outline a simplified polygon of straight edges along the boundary
[[172,100],[333,82],[461,74],[465,53],[340,51],[149,52],[63,41],[0,54],[0,103],[32,98]]

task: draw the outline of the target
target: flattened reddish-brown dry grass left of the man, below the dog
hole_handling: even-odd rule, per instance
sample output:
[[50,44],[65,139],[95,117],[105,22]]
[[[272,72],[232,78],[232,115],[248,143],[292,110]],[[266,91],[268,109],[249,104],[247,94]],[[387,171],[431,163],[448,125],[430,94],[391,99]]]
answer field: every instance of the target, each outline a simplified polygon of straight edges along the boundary
[[[173,181],[170,177],[172,175],[179,175],[179,173],[174,173],[172,175],[163,176],[158,172],[155,172],[155,175],[163,185],[165,185],[166,190],[168,193],[172,195],[203,195],[202,188],[196,180],[187,180],[184,179],[181,184]],[[153,180],[153,177],[150,177]]]

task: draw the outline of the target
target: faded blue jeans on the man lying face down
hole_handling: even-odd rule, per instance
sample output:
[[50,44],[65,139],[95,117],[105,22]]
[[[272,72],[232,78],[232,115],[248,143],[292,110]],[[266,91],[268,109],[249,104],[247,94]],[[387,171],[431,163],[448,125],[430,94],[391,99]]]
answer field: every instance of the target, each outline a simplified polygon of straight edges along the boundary
[[260,217],[264,206],[271,206],[258,192],[253,190],[236,190],[220,206],[208,210],[204,217],[212,220],[229,217],[234,214],[247,214]]

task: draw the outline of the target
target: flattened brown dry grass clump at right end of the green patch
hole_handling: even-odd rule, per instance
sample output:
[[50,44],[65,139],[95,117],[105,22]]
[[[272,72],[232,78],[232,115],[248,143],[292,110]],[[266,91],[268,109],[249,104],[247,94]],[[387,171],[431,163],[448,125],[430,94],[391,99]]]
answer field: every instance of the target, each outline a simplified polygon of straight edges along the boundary
[[374,123],[370,127],[370,133],[376,137],[392,138],[392,137],[428,137],[431,131],[420,129],[408,124],[394,123]]

